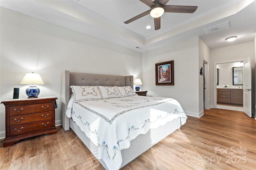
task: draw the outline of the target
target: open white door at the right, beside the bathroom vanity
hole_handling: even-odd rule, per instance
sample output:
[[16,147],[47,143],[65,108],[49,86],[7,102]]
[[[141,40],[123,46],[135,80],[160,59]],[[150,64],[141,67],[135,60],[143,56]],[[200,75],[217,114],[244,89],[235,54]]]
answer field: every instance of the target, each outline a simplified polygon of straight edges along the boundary
[[252,66],[250,57],[244,60],[243,105],[244,113],[249,117],[252,117]]

